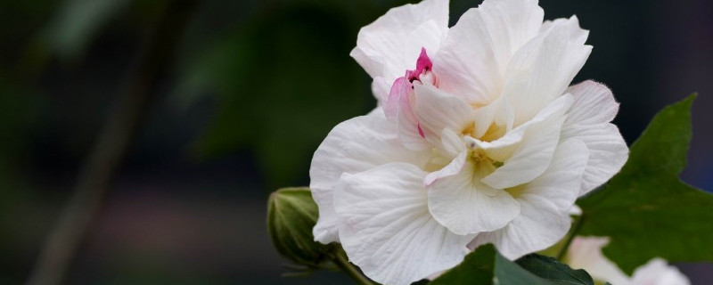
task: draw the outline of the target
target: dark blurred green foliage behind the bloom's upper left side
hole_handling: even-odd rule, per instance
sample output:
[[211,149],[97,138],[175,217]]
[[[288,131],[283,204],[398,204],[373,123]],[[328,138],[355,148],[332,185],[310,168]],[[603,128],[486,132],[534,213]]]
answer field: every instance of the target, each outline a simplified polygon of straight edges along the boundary
[[312,152],[332,126],[375,106],[370,78],[348,57],[368,11],[381,9],[367,2],[265,2],[240,27],[201,41],[184,56],[176,85],[184,103],[217,97],[196,154],[248,149],[268,189],[306,183]]

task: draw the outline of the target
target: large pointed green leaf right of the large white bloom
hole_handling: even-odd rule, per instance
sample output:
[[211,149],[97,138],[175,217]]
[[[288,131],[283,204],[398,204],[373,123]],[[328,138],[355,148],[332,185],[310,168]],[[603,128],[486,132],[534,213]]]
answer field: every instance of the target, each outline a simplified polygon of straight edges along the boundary
[[621,172],[578,201],[585,219],[578,234],[609,236],[603,253],[626,273],[656,256],[713,261],[713,195],[678,178],[691,141],[694,98],[661,110],[631,146]]

